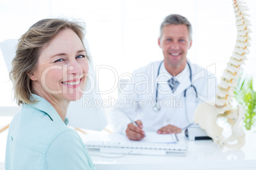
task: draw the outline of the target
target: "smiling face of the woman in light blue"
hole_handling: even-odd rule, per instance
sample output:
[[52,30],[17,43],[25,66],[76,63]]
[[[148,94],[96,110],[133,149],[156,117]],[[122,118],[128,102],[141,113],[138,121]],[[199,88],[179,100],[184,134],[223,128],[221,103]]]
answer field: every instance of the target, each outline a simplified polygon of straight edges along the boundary
[[41,49],[37,64],[31,74],[36,93],[57,101],[82,97],[89,67],[83,44],[73,30],[60,30]]

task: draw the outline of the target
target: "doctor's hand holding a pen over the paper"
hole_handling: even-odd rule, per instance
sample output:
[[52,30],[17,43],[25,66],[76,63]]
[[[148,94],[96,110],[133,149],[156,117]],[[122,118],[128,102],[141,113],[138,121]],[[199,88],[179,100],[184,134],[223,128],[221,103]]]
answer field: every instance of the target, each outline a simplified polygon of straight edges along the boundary
[[135,123],[138,126],[135,126],[134,124],[130,123],[127,125],[126,129],[126,136],[129,138],[129,140],[142,140],[145,137],[145,132],[142,130],[142,122],[141,121],[135,121]]

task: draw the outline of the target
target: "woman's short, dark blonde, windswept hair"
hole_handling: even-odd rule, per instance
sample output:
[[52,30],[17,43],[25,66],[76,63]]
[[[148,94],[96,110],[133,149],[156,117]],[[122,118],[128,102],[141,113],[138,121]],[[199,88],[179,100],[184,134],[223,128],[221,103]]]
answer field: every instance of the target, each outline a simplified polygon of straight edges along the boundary
[[[10,79],[13,82],[14,98],[17,104],[34,103],[30,74],[36,69],[41,48],[62,29],[71,29],[83,44],[83,22],[70,22],[66,19],[49,18],[34,23],[18,40],[16,56],[11,62]],[[84,44],[83,44],[84,47]],[[85,49],[86,50],[86,49]]]

